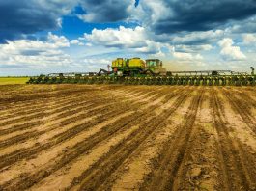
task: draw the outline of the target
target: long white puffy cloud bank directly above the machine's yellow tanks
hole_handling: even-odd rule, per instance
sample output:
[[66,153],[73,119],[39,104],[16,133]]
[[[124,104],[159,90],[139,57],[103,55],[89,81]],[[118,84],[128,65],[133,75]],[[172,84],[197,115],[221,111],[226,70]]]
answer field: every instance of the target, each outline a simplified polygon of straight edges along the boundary
[[[83,40],[87,41],[91,46],[100,45],[103,47],[115,47],[118,49],[126,49],[129,52],[135,52],[138,54],[148,54],[148,56],[159,56],[163,57],[167,54],[164,53],[164,49],[169,52],[176,53],[173,55],[177,59],[189,59],[189,60],[200,60],[202,56],[201,51],[209,51],[213,49],[210,44],[192,44],[192,41],[202,40],[204,43],[207,42],[207,38],[218,37],[222,34],[220,31],[204,32],[201,36],[195,34],[187,35],[185,37],[177,37],[171,41],[155,41],[155,36],[152,36],[144,27],[137,26],[134,29],[125,28],[121,26],[118,29],[94,29],[92,34],[84,34]],[[176,41],[175,44],[173,41]],[[86,44],[87,44],[86,43]],[[184,44],[188,45],[184,45]],[[173,45],[175,44],[175,45]]]

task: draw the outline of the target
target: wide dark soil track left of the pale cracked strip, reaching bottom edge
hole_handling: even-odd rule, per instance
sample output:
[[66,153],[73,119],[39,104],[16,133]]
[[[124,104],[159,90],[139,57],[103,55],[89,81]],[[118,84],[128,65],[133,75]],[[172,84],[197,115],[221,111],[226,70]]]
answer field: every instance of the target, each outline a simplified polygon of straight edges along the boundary
[[185,123],[176,129],[172,140],[169,140],[160,151],[152,173],[145,177],[140,190],[172,190],[178,171],[183,163],[188,140],[194,130],[194,122],[202,101],[203,91],[192,99]]

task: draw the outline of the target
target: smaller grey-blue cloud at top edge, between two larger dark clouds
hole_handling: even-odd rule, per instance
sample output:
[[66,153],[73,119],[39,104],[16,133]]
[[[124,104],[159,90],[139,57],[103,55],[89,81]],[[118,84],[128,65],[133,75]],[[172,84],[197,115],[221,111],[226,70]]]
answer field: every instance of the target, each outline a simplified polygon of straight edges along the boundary
[[135,9],[135,0],[81,0],[86,14],[78,17],[86,22],[116,22],[128,19]]

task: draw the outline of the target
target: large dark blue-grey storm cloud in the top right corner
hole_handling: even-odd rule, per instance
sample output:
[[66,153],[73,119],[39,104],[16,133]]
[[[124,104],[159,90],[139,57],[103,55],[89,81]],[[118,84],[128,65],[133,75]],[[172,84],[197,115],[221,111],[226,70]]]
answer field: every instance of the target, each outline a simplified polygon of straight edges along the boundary
[[141,0],[138,17],[158,34],[208,31],[256,14],[254,0]]

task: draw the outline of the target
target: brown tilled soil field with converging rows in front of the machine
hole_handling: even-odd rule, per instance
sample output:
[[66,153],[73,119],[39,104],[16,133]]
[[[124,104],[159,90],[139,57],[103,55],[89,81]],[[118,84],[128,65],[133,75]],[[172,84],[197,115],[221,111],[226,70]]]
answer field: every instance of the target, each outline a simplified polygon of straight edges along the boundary
[[256,190],[256,88],[0,86],[0,190]]

